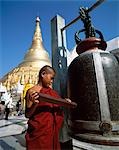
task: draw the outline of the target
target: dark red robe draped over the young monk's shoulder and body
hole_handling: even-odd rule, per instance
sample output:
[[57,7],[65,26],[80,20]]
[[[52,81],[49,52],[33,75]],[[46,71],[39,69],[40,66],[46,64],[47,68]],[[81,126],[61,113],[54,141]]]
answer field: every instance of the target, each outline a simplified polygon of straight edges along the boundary
[[[42,88],[40,93],[60,97],[51,88]],[[56,111],[51,112],[52,108]],[[63,113],[59,108],[56,104],[39,102],[35,114],[28,120],[25,136],[27,150],[60,150],[59,130],[63,122]]]

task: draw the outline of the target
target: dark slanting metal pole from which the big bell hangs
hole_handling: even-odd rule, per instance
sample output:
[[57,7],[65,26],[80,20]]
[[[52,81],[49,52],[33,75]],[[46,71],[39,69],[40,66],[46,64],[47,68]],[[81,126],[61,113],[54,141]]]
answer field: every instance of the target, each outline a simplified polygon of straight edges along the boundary
[[[105,0],[98,0],[95,4],[93,4],[89,9],[88,12],[92,11],[93,9],[95,9],[98,5],[100,5],[101,3],[103,3]],[[70,23],[68,23],[66,26],[64,26],[61,29],[61,32],[63,32],[63,30],[65,30],[66,28],[68,28],[70,25],[72,25],[73,23],[75,23],[76,21],[78,21],[80,19],[80,16],[78,16],[77,18],[75,18],[74,20],[72,20]]]

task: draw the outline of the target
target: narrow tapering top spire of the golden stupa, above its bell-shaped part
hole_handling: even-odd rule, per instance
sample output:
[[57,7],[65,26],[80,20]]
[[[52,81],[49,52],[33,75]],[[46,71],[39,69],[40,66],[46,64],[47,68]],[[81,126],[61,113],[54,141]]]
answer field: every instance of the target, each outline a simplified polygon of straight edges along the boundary
[[35,28],[31,48],[32,49],[38,48],[44,50],[39,17],[36,17],[36,28]]

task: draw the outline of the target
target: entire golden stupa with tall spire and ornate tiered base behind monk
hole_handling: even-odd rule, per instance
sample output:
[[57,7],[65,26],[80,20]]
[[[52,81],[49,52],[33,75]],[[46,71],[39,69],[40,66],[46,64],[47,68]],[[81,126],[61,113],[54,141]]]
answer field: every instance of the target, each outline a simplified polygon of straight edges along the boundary
[[36,18],[36,28],[31,47],[25,54],[24,60],[13,70],[7,73],[0,82],[6,86],[7,90],[12,90],[18,82],[21,85],[36,84],[38,72],[44,65],[50,65],[51,61],[48,52],[43,46],[40,19]]

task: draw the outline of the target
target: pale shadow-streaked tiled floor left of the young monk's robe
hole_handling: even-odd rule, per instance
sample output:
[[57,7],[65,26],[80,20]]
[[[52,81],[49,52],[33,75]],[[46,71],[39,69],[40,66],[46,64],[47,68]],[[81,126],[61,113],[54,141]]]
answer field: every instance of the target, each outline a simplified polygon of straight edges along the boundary
[[25,150],[26,129],[27,119],[24,116],[0,120],[0,150]]

